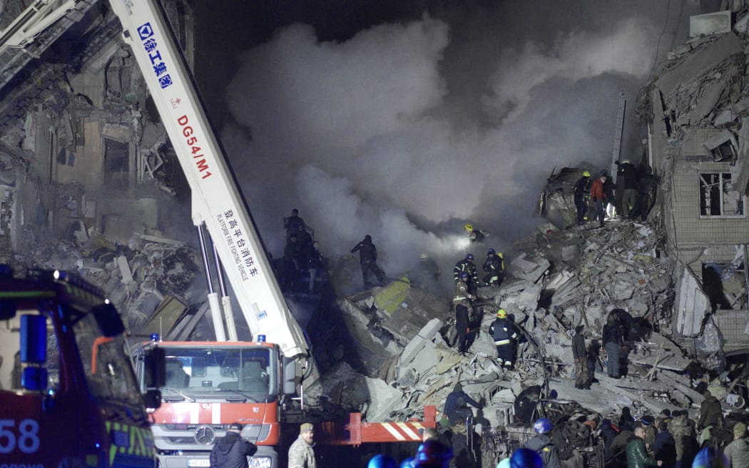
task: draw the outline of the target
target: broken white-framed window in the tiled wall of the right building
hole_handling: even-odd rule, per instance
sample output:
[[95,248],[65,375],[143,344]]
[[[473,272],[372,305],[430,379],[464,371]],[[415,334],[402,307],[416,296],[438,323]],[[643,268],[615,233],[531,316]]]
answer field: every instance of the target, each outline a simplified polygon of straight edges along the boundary
[[703,172],[700,177],[700,218],[744,216],[745,197],[734,189],[730,172]]

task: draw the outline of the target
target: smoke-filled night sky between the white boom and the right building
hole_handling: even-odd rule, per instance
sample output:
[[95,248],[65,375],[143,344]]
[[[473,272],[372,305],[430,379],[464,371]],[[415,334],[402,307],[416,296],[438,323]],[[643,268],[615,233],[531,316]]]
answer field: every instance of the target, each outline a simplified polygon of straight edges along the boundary
[[656,55],[719,4],[196,1],[198,84],[266,245],[298,207],[324,254],[372,234],[391,274],[449,268],[467,221],[504,251],[530,234],[554,168],[610,166],[622,91],[639,159]]

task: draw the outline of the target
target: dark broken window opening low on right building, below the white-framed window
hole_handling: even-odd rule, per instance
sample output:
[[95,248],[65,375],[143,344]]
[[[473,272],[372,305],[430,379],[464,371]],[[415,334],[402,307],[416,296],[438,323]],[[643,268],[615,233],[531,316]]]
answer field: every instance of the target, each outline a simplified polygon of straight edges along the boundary
[[744,264],[703,264],[703,291],[712,310],[747,309],[747,283]]

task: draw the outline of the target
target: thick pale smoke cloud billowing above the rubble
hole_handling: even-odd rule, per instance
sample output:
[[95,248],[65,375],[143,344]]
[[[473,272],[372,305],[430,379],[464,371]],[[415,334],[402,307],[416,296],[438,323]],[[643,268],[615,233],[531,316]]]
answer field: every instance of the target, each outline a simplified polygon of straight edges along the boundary
[[[449,270],[466,252],[467,220],[492,233],[479,261],[487,246],[508,250],[539,222],[553,168],[610,165],[619,92],[633,109],[664,25],[665,11],[643,12],[581,22],[554,41],[546,31],[497,46],[502,31],[484,41],[473,31],[470,47],[491,58],[474,76],[467,46],[430,16],[343,42],[306,25],[277,31],[240,58],[226,90],[237,125],[222,135],[268,248],[282,252],[282,216],[297,207],[327,255],[372,234],[389,276],[421,252]],[[472,103],[461,102],[471,94],[461,75],[478,88]]]

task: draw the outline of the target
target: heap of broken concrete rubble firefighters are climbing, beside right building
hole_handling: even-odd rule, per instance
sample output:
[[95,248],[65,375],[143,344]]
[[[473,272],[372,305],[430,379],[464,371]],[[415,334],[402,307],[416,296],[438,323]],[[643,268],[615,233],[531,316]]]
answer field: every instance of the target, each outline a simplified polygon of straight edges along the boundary
[[[441,410],[461,383],[482,402],[482,421],[491,427],[512,422],[515,399],[535,385],[544,386],[546,395],[555,389],[563,400],[599,415],[625,406],[640,414],[694,410],[703,396],[685,374],[693,362],[670,339],[675,261],[662,249],[663,234],[649,223],[618,219],[603,228],[539,226],[537,234],[516,244],[518,255],[500,288],[479,288],[474,309],[481,312],[481,325],[466,355],[456,350],[449,305],[415,306],[413,298],[427,294],[405,278],[345,297],[339,300],[342,320],[367,365],[357,368],[357,375],[339,362],[308,387],[307,395],[361,410],[372,422],[405,420],[418,417],[425,405]],[[514,370],[503,369],[488,334],[500,307],[514,317],[521,334]],[[631,317],[627,377],[607,377],[604,354],[595,373],[598,383],[591,390],[574,388],[574,327],[585,326],[588,343],[600,342],[607,315],[615,309]],[[407,317],[408,325],[398,316]],[[347,353],[336,356],[351,359]],[[373,380],[381,380],[379,387]],[[341,392],[344,386],[362,390]],[[713,386],[726,395],[720,380]]]

